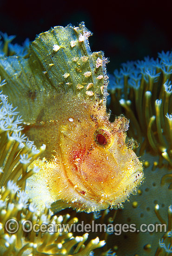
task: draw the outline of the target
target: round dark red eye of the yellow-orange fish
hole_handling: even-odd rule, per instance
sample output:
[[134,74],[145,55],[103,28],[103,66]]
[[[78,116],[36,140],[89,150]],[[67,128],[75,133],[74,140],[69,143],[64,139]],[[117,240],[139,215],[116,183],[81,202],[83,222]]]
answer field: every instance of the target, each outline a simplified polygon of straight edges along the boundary
[[97,129],[94,133],[94,140],[99,146],[109,148],[112,145],[112,134],[104,129]]

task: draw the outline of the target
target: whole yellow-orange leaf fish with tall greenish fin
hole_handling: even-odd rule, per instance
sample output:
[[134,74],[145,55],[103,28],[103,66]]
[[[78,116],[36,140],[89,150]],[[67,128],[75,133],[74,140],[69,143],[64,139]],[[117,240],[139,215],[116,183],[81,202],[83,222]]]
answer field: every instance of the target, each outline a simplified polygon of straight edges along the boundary
[[40,209],[117,208],[143,180],[142,163],[126,142],[129,121],[123,115],[109,121],[106,59],[91,52],[90,35],[84,23],[54,27],[26,56],[0,59],[2,90],[18,106],[25,134],[46,144],[33,162],[40,172],[26,183]]

